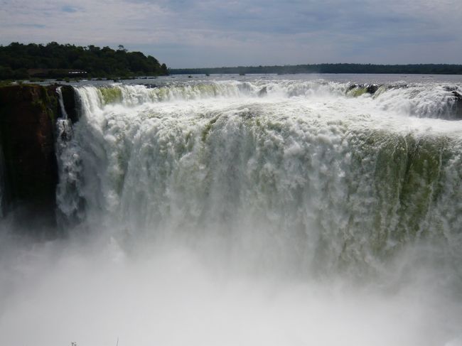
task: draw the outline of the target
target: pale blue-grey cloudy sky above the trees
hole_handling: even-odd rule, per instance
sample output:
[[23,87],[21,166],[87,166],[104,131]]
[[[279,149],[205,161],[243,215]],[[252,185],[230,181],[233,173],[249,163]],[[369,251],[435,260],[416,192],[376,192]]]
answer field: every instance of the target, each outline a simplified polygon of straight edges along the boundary
[[168,67],[462,63],[462,0],[0,0],[0,44],[108,45]]

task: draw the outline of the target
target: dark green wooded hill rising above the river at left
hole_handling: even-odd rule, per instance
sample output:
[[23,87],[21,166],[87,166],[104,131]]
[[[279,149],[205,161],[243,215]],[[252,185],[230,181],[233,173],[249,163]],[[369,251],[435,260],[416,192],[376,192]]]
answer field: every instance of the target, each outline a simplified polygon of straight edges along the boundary
[[167,75],[165,64],[151,55],[129,52],[119,45],[109,47],[88,45],[47,45],[11,43],[0,45],[0,80],[62,77],[65,70],[79,70],[86,77],[130,77],[134,75]]

